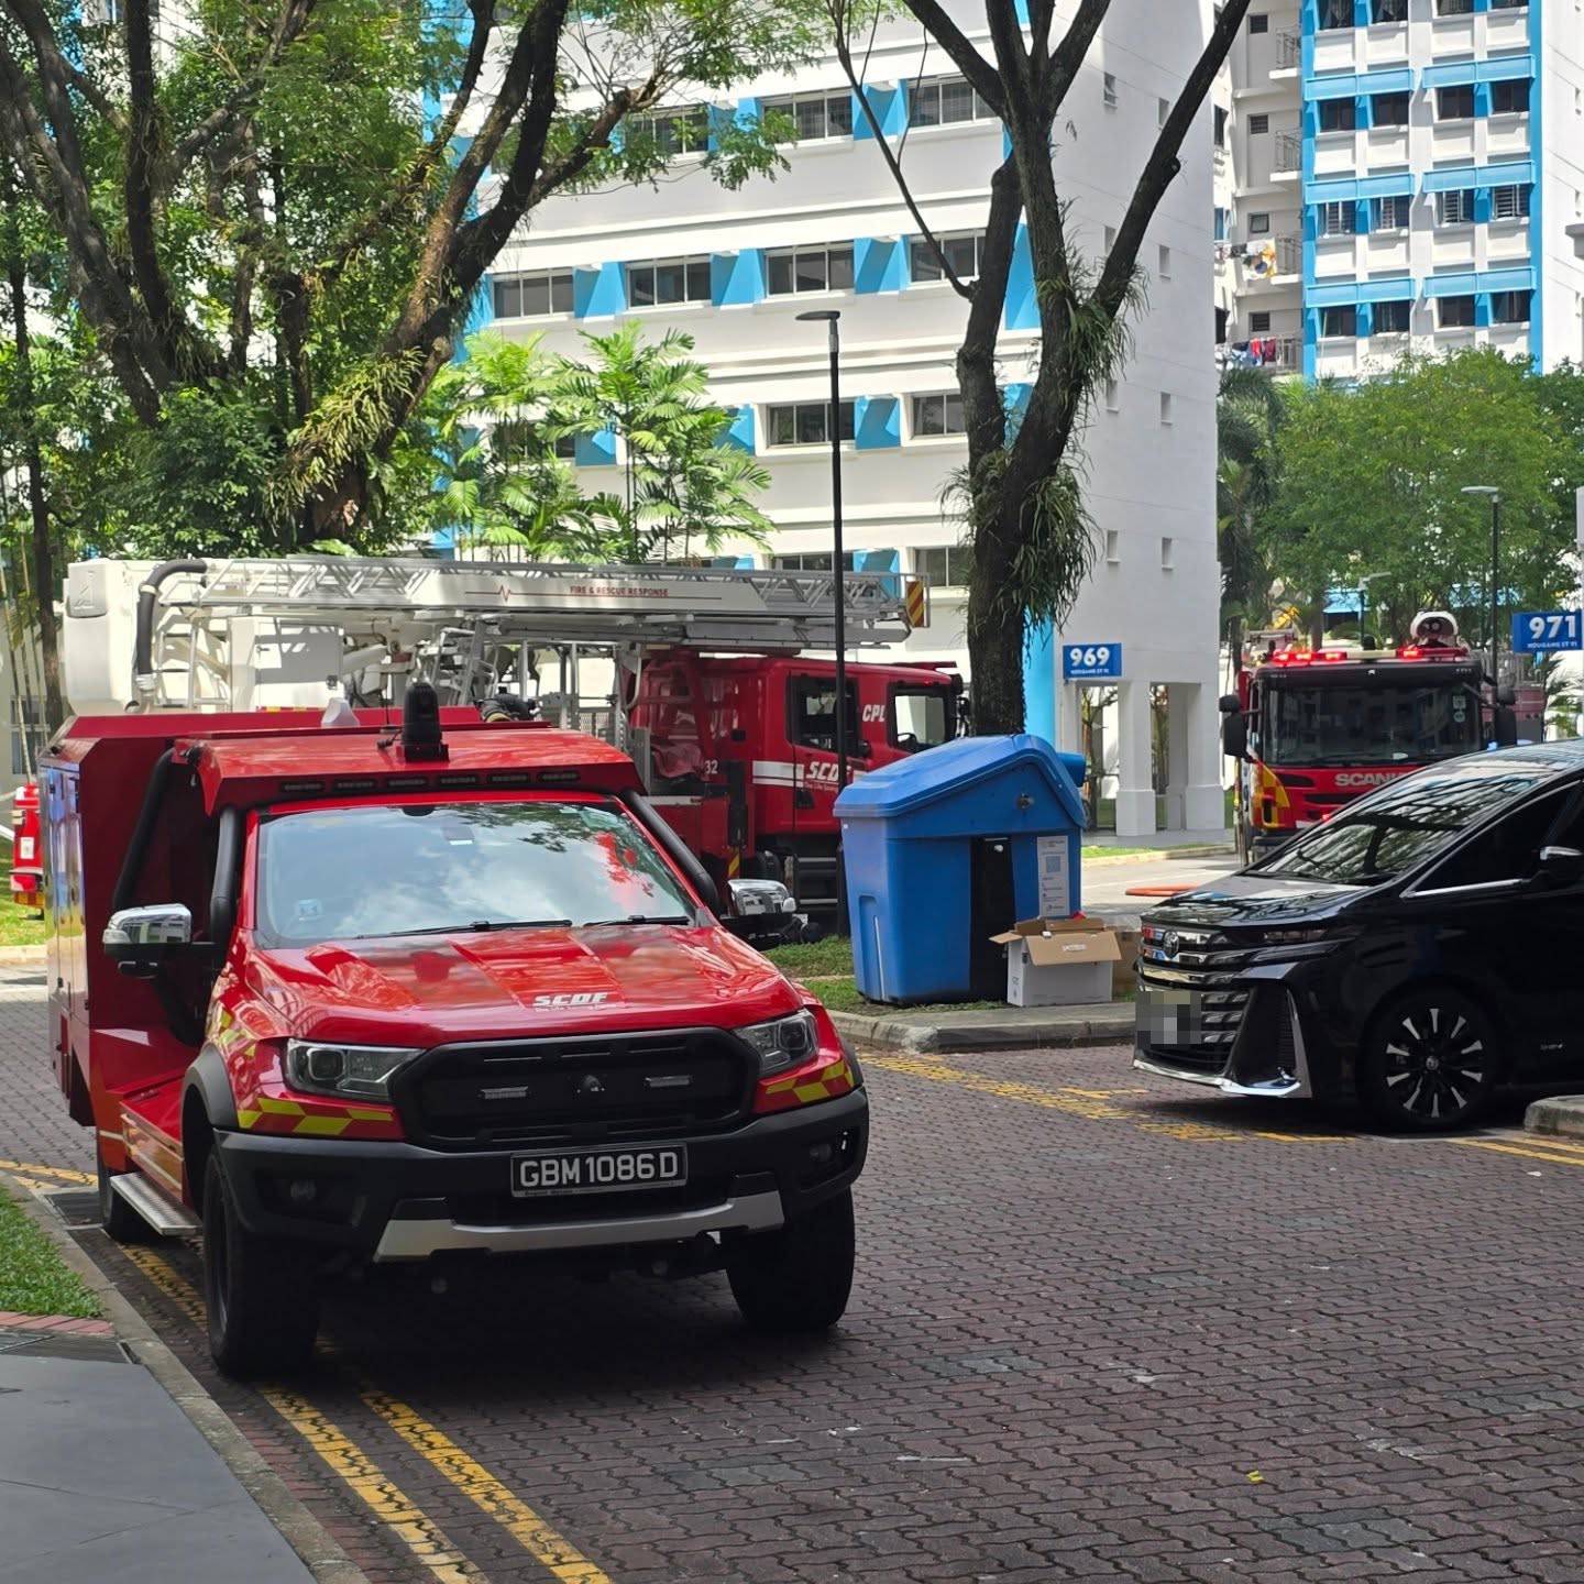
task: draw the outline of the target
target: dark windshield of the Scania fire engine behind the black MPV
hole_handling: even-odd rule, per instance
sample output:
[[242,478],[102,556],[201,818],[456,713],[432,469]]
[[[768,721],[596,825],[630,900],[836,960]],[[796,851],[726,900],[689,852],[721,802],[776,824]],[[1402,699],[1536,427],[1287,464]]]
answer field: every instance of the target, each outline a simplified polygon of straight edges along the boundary
[[1270,765],[1424,765],[1481,748],[1479,705],[1460,683],[1267,687]]

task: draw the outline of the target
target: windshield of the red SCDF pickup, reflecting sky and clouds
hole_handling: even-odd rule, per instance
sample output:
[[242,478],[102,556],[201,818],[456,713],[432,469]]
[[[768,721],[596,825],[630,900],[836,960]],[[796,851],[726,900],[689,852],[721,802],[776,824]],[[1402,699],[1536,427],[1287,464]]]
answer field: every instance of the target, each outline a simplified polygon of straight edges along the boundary
[[648,838],[596,803],[284,814],[260,828],[257,893],[258,933],[277,946],[695,917]]

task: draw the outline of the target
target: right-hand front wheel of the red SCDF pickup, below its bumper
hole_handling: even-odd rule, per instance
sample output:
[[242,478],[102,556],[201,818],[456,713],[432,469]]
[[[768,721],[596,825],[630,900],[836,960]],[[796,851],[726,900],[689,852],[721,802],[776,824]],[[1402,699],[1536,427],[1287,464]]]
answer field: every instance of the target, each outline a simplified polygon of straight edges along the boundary
[[725,1275],[754,1331],[825,1331],[852,1291],[852,1190],[800,1215],[779,1232],[733,1243]]

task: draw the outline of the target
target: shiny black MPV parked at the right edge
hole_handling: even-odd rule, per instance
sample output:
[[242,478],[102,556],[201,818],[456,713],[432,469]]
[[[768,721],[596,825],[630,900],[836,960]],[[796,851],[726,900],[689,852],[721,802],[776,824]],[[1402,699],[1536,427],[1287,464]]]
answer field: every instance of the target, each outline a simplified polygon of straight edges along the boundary
[[1432,765],[1155,908],[1134,1066],[1421,1131],[1584,1080],[1584,741]]

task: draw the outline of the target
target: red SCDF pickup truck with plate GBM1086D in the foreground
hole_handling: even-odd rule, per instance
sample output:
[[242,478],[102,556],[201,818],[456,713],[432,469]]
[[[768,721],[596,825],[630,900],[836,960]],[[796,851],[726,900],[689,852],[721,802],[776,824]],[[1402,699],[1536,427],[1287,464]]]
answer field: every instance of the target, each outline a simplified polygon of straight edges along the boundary
[[119,1239],[203,1239],[222,1369],[367,1264],[724,1269],[833,1324],[868,1139],[824,1007],[632,759],[440,710],[79,716],[43,760],[51,1039]]

